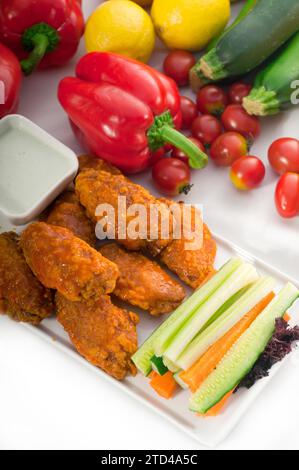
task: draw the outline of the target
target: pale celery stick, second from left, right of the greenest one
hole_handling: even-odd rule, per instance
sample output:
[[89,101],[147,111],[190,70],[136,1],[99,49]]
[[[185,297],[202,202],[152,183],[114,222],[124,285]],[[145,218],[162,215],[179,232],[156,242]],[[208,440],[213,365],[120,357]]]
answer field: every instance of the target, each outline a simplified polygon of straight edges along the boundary
[[[177,359],[211,316],[234,294],[258,279],[256,269],[249,263],[240,266],[196,312],[176,334],[163,357],[177,364]],[[221,318],[221,317],[220,317]]]

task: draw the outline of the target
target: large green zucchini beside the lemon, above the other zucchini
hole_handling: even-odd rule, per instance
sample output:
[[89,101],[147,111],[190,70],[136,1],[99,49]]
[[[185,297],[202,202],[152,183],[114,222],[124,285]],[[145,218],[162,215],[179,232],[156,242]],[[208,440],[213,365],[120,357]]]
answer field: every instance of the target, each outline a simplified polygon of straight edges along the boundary
[[250,72],[298,30],[298,0],[259,0],[254,9],[193,67],[193,88],[202,75],[218,81]]

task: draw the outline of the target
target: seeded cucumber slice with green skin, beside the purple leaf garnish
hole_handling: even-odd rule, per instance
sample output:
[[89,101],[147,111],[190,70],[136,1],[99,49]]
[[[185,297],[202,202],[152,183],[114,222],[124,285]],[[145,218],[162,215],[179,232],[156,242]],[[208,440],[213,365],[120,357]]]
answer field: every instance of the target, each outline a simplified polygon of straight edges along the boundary
[[206,413],[240,383],[265,350],[275,330],[275,319],[285,314],[298,295],[291,283],[280,291],[191,396],[190,410]]

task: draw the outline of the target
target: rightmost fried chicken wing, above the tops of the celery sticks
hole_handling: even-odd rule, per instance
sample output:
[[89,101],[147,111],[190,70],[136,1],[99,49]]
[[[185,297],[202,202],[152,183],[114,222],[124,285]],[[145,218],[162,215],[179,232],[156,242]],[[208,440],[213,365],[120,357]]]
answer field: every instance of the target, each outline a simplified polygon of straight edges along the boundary
[[[168,205],[173,205],[173,201],[163,200]],[[184,207],[183,203],[179,204],[180,209]],[[160,261],[164,263],[170,271],[176,273],[179,278],[193,289],[198,288],[209,276],[214,274],[214,261],[216,257],[217,246],[210,230],[204,223],[200,224],[201,234],[198,233],[198,245],[196,249],[191,248],[195,241],[195,217],[201,219],[201,214],[195,207],[191,208],[190,228],[183,230],[184,219],[181,218],[181,234],[180,239],[173,240],[168,247],[160,254]],[[192,235],[193,234],[193,235]]]

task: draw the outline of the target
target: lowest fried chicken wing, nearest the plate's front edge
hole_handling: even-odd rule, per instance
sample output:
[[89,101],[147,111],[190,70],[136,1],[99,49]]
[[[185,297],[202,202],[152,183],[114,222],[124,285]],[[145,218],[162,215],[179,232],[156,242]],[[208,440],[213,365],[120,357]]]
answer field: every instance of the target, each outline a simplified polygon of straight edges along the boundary
[[118,380],[135,375],[136,314],[113,305],[108,295],[95,302],[71,302],[56,294],[56,305],[58,321],[79,354]]

